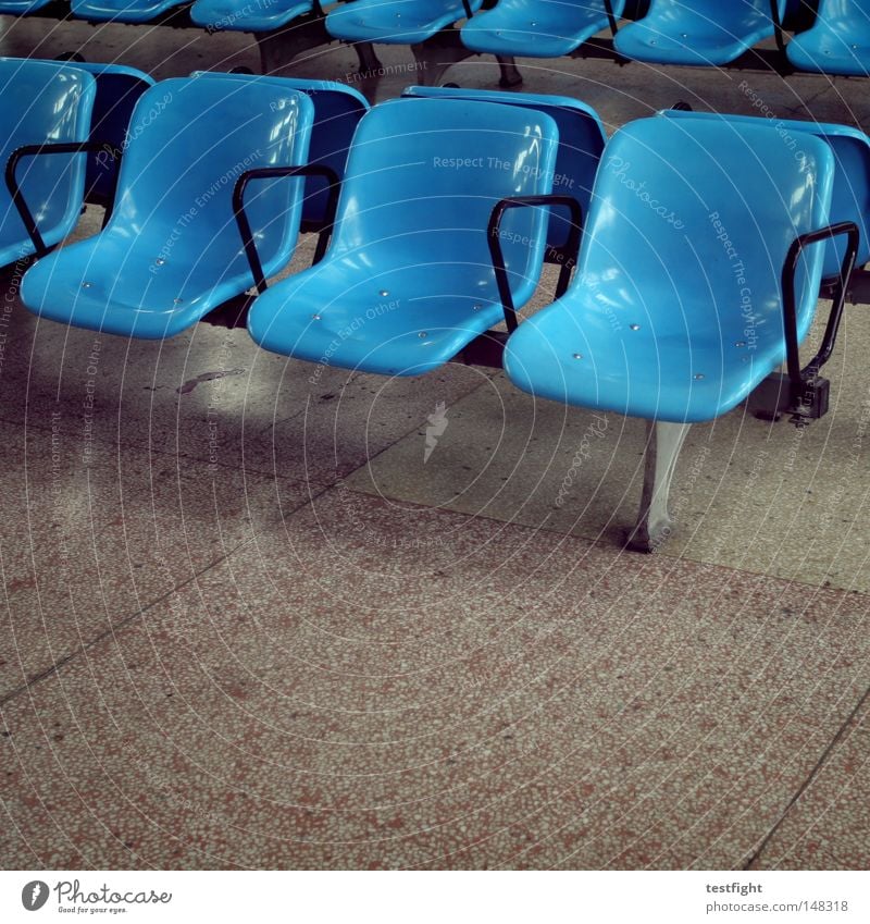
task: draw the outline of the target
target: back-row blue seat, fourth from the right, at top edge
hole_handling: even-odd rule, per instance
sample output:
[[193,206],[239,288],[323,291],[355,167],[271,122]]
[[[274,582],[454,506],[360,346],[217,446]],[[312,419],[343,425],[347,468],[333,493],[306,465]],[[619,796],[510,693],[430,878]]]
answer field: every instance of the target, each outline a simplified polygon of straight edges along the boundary
[[[483,0],[470,0],[471,11]],[[355,0],[326,16],[326,29],[345,41],[417,45],[465,19],[462,0]]]

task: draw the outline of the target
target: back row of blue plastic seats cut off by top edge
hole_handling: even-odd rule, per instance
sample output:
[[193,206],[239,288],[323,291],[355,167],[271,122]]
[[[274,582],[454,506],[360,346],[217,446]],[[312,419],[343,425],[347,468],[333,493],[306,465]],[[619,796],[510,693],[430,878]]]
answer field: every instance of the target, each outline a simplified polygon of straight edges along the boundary
[[[50,0],[0,0],[0,12],[30,13]],[[189,0],[72,0],[73,16],[91,22],[141,23]],[[618,28],[625,0],[355,0],[335,5],[326,30],[352,42],[417,45],[464,21],[460,37],[478,53],[558,58],[602,29],[613,32],[626,59],[662,64],[722,65],[782,22],[786,0],[650,0],[646,14]],[[265,33],[323,14],[320,0],[195,0],[194,23],[212,30]],[[865,76],[870,73],[870,0],[819,0],[811,28],[785,48],[798,70]]]

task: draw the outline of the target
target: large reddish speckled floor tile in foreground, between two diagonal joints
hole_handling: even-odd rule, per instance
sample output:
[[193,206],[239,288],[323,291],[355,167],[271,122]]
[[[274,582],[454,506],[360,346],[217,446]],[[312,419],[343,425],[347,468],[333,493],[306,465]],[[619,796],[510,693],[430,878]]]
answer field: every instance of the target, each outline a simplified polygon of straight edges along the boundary
[[[860,594],[664,556],[607,581],[622,553],[582,540],[424,508],[399,530],[376,500],[361,516],[370,537],[450,539],[427,569],[394,550],[380,592],[341,554],[306,568],[312,533],[359,542],[326,492],[11,700],[27,849],[94,865],[734,866],[870,680]],[[515,549],[514,608],[493,620],[494,597],[462,588],[489,574],[498,591]],[[556,559],[549,608],[535,576]],[[456,580],[435,594],[433,565]],[[486,614],[470,633],[469,613]],[[59,757],[53,722],[87,747]],[[22,793],[75,798],[65,853],[46,816],[20,817]],[[104,831],[122,802],[139,822],[119,840]]]

